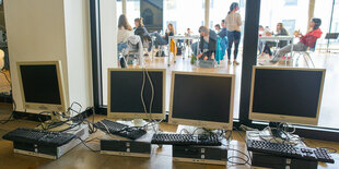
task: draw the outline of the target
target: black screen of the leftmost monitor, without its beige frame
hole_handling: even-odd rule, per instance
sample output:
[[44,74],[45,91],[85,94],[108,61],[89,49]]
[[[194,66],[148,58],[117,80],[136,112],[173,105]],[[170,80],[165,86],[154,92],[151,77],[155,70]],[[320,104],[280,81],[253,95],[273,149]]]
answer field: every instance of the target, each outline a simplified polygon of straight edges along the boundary
[[61,105],[56,64],[19,67],[26,102]]

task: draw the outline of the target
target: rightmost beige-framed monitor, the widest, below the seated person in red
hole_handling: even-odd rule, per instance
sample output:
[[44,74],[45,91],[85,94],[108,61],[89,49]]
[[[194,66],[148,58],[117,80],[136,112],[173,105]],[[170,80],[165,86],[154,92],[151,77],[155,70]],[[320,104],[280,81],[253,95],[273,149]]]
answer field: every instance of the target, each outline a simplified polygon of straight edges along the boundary
[[249,119],[317,124],[325,69],[254,67]]

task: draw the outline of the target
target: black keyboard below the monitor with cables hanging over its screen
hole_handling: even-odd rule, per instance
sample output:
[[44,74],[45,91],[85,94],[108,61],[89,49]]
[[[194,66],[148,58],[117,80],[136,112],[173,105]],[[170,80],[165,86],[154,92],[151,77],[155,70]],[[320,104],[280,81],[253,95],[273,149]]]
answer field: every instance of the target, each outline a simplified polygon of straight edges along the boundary
[[109,132],[110,134],[119,135],[131,140],[137,140],[147,133],[147,131],[140,128],[128,126],[126,124],[121,124],[107,119],[96,122],[95,128],[100,129],[103,132]]

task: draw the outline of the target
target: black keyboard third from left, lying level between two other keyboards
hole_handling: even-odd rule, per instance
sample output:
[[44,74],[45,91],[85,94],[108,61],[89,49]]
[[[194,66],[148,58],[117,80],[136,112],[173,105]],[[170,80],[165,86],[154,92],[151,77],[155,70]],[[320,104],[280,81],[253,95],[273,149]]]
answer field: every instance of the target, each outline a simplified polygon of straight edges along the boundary
[[218,135],[192,135],[192,134],[154,134],[152,144],[172,144],[172,145],[204,145],[220,146]]

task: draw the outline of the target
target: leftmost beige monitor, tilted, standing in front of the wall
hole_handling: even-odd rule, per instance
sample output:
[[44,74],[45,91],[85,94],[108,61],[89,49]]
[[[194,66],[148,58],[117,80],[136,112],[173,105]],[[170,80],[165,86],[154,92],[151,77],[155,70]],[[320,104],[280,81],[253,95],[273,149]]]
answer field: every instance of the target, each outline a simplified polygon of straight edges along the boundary
[[17,72],[25,109],[66,111],[59,61],[17,62]]

